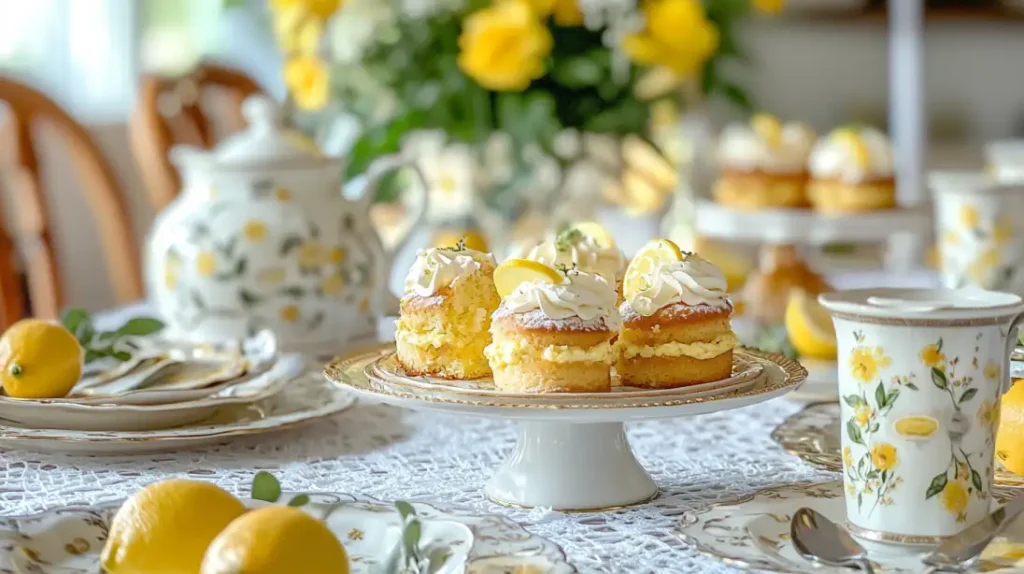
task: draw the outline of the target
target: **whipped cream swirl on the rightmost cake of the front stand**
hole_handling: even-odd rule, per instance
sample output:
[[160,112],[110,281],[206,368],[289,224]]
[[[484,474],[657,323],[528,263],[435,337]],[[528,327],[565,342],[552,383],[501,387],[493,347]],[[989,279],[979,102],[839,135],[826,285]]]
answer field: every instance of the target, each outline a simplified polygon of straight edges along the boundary
[[687,255],[682,261],[658,265],[647,276],[647,289],[629,301],[630,307],[644,317],[675,303],[727,307],[725,274],[710,261]]

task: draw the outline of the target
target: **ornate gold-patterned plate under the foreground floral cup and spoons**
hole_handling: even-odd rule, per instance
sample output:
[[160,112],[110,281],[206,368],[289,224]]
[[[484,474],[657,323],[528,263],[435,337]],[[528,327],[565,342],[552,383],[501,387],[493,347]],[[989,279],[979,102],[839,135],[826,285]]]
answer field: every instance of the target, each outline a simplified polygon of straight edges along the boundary
[[[1002,503],[1006,491],[996,492]],[[743,570],[803,574],[849,574],[848,568],[814,567],[797,554],[790,539],[790,521],[798,509],[814,509],[838,524],[846,520],[843,483],[788,484],[759,490],[739,498],[718,502],[683,515],[676,536],[697,551]],[[1018,525],[985,550],[983,560],[972,572],[1020,572],[1015,556],[1024,545],[1011,540],[1024,539]],[[879,574],[918,574],[924,570],[921,559],[926,553],[886,546],[880,554],[868,548],[868,558]],[[1007,558],[1002,558],[1007,557]]]

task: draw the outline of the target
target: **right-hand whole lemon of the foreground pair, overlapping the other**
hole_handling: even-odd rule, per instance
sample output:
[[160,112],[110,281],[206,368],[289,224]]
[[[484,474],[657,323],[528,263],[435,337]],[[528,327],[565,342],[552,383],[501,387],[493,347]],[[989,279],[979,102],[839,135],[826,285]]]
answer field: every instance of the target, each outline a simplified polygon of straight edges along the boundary
[[206,550],[200,574],[348,574],[348,557],[323,521],[292,506],[246,513]]

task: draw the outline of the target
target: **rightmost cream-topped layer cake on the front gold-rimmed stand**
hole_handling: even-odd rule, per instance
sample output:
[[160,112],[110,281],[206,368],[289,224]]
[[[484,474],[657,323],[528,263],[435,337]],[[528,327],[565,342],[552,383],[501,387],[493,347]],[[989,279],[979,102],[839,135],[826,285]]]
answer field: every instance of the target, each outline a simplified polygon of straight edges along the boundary
[[623,385],[667,389],[726,379],[736,336],[722,271],[659,239],[626,273],[615,365]]

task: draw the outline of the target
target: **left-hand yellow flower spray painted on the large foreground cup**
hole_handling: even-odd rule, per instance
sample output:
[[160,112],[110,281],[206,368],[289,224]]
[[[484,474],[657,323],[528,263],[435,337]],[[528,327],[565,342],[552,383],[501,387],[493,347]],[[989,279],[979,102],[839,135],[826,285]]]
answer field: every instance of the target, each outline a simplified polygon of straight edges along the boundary
[[[912,376],[892,377],[887,386],[881,377],[891,366],[892,359],[882,347],[868,345],[863,333],[854,332],[853,337],[857,346],[850,353],[850,374],[861,384],[862,390],[843,397],[844,413],[852,410],[844,429],[848,442],[843,448],[843,474],[847,492],[856,497],[857,507],[861,509],[865,499],[870,501],[867,511],[870,516],[879,505],[893,504],[892,492],[903,483],[896,472],[899,468],[896,445],[874,440],[880,421],[889,414],[904,390],[919,389]],[[873,391],[868,393],[871,384]],[[856,445],[860,453],[854,454],[851,445]]]

